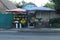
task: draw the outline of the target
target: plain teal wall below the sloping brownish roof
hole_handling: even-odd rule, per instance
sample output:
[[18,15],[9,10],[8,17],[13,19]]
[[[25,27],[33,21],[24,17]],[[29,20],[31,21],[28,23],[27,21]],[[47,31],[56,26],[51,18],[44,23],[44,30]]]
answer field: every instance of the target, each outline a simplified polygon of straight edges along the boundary
[[13,14],[3,14],[0,12],[0,27],[10,28],[12,26]]

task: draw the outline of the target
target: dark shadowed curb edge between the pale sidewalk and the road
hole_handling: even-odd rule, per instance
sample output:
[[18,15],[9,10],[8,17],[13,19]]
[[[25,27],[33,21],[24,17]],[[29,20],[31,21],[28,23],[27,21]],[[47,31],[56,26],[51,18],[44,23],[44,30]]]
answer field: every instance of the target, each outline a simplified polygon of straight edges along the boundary
[[18,30],[18,32],[60,33],[60,30]]

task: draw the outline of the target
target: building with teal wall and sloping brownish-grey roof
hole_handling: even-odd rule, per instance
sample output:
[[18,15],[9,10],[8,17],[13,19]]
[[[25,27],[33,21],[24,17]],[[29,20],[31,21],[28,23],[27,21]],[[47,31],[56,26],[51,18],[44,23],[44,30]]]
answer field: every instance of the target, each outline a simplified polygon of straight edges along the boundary
[[13,14],[7,14],[7,9],[17,8],[9,0],[0,0],[0,28],[10,28],[12,26]]

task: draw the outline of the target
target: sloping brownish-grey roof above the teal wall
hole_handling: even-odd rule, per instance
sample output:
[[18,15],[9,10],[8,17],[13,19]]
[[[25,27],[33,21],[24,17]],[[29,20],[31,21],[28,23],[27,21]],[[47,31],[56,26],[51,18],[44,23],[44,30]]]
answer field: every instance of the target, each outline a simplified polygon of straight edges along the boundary
[[[17,8],[11,1],[9,0],[0,0],[0,3],[3,5],[3,8],[6,9],[14,9]],[[1,7],[0,7],[1,8]],[[3,9],[2,8],[2,9]],[[4,9],[3,9],[4,10]]]

